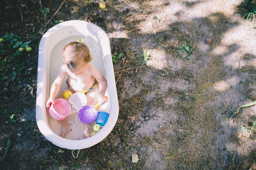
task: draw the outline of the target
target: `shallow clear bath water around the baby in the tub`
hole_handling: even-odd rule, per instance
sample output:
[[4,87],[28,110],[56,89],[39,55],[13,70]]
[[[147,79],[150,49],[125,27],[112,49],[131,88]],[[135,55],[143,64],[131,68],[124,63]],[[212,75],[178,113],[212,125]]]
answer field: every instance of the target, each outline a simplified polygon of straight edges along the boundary
[[[61,54],[63,52],[65,45],[67,45],[69,42],[76,41],[77,39],[84,39],[84,43],[88,45],[90,54],[93,57],[93,60],[91,62],[92,65],[95,66],[103,76],[105,76],[105,66],[102,58],[103,54],[102,54],[101,45],[99,44],[100,42],[98,42],[97,39],[95,39],[95,37],[71,36],[71,37],[68,37],[67,39],[60,41],[58,44],[56,44],[51,52],[49,87],[51,87],[53,81],[57,77],[60,66],[63,65],[64,63],[61,57]],[[61,91],[63,91],[64,88],[67,87],[67,84],[65,83],[66,79],[67,79],[67,75],[65,76],[65,79],[61,84],[60,91],[57,96],[59,96]],[[106,96],[108,96],[108,90],[106,92]],[[77,117],[78,111],[76,111],[76,109],[73,108],[72,105],[71,105],[71,108],[72,108],[72,112],[68,117],[68,123],[72,125],[72,130],[65,135],[65,138],[72,139],[72,140],[88,138],[90,133],[93,132],[93,126],[96,123],[93,122],[92,124],[83,124],[82,122],[80,122],[79,118]],[[100,107],[98,107],[97,110],[98,112],[102,111],[102,112],[109,113],[109,101],[107,101],[104,105],[101,105]],[[52,129],[54,133],[56,133],[57,135],[60,135],[61,129],[63,128],[61,126],[61,122],[52,118],[48,112],[47,114],[48,114],[49,127]],[[84,130],[86,131],[85,135],[84,135]]]

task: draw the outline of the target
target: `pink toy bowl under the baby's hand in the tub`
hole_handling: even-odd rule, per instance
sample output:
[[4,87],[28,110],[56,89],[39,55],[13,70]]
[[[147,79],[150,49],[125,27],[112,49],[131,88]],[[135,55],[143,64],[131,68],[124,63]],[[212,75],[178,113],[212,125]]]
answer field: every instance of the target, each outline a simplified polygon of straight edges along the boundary
[[49,113],[56,120],[64,120],[71,113],[71,107],[64,99],[56,99],[49,107]]

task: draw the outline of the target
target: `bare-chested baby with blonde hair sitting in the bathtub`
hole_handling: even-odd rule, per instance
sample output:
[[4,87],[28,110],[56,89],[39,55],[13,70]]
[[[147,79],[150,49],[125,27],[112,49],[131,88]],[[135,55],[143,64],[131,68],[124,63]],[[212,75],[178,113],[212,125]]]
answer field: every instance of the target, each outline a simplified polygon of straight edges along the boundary
[[[61,83],[63,82],[65,75],[68,75],[67,84],[69,90],[72,92],[83,92],[87,97],[87,104],[94,104],[97,100],[100,104],[106,103],[106,79],[101,73],[94,67],[90,61],[89,48],[83,42],[71,42],[65,46],[62,58],[64,64],[61,65],[57,78],[52,83],[49,99],[46,103],[46,107],[49,108],[51,104],[55,104],[54,100],[60,90]],[[96,84],[98,82],[98,84]],[[95,91],[98,88],[98,96]],[[63,93],[67,91],[67,88],[61,92],[59,98],[63,98]],[[67,100],[67,99],[65,99]],[[63,124],[63,130],[61,131],[61,137],[64,137],[72,126],[68,124],[67,118],[61,121]],[[84,132],[86,133],[86,132]]]

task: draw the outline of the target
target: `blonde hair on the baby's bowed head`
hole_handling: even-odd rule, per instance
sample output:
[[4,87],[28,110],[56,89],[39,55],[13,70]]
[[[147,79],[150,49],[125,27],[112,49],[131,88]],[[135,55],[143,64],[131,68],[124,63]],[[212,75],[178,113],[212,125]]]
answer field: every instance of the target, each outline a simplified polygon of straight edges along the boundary
[[82,60],[84,60],[85,63],[88,63],[93,59],[90,55],[88,46],[83,42],[77,41],[70,42],[65,46],[62,52],[62,58],[70,69],[75,69]]

